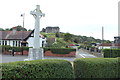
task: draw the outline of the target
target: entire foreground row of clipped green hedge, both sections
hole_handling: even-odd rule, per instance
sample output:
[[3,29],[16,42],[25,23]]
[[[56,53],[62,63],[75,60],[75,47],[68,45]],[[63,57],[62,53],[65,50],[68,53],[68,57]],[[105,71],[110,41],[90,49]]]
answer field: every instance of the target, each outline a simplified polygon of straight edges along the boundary
[[120,58],[81,58],[74,70],[66,60],[34,60],[0,64],[2,78],[120,78]]

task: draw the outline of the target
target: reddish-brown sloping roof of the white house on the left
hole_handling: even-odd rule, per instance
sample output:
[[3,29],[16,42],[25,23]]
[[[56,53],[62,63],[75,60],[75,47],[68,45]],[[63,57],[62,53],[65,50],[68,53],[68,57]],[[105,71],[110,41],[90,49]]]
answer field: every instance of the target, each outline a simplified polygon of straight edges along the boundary
[[21,40],[26,39],[32,31],[0,31],[2,40]]

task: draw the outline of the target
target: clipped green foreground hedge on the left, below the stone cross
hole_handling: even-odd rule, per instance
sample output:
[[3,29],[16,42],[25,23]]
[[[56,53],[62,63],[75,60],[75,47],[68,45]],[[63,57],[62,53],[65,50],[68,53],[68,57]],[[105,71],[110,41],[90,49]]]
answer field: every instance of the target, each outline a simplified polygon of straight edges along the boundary
[[72,65],[66,60],[34,60],[3,63],[2,78],[74,78]]

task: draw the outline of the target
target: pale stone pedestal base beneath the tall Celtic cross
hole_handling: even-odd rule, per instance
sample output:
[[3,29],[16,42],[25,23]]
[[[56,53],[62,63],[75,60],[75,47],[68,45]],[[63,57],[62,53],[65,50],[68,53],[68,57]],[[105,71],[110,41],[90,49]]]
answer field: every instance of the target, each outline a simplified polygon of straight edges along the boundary
[[28,59],[24,59],[24,61],[30,61],[30,60],[38,60],[43,59],[43,48],[30,48]]

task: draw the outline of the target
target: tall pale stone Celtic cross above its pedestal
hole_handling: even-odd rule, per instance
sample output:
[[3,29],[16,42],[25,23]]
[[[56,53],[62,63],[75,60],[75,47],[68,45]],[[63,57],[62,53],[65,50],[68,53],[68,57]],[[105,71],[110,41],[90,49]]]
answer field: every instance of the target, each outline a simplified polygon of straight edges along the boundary
[[33,48],[40,48],[40,18],[45,16],[44,13],[40,10],[40,5],[36,6],[36,9],[30,12],[31,15],[35,18],[35,29],[34,29],[34,43]]

